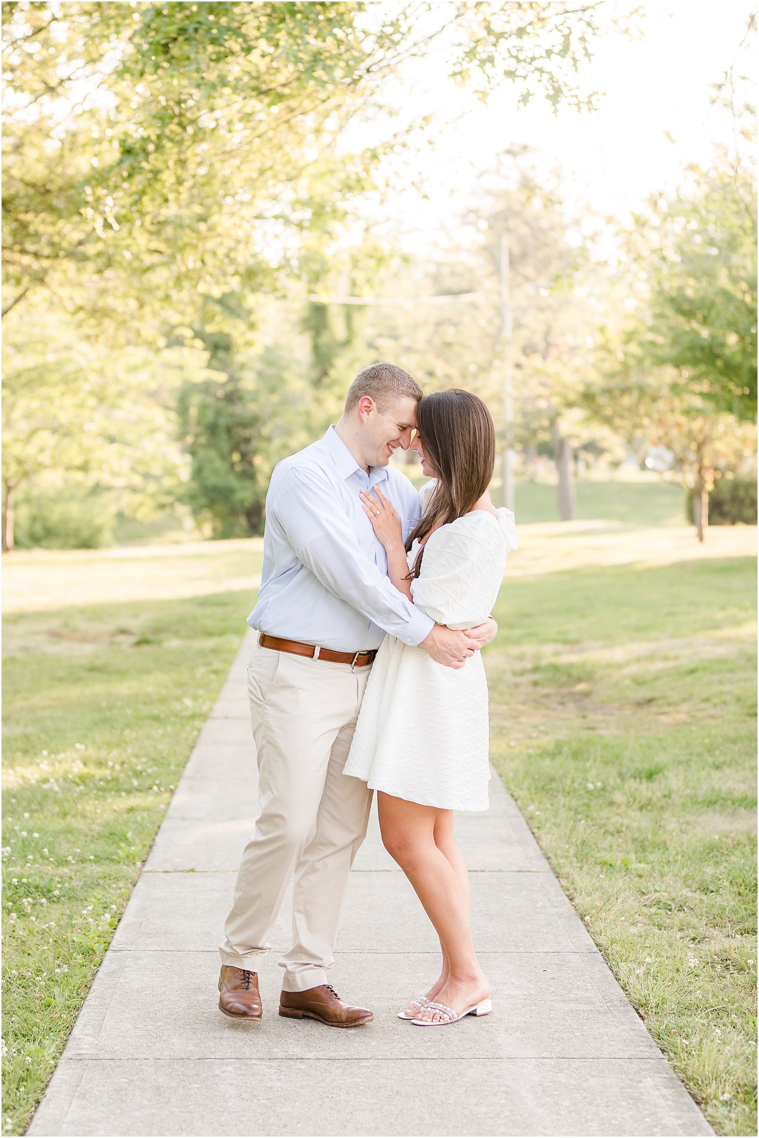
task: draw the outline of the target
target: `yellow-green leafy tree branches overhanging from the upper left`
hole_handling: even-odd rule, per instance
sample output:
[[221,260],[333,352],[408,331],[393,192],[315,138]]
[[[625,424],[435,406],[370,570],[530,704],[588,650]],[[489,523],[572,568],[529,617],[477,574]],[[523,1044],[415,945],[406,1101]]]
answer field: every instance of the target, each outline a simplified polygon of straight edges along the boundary
[[483,94],[583,104],[597,7],[3,3],[9,306],[74,290],[103,319],[273,288],[298,233],[334,232],[370,184],[381,149],[337,140],[403,59],[444,32]]

